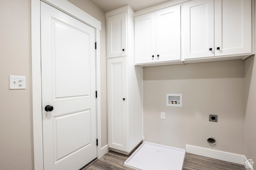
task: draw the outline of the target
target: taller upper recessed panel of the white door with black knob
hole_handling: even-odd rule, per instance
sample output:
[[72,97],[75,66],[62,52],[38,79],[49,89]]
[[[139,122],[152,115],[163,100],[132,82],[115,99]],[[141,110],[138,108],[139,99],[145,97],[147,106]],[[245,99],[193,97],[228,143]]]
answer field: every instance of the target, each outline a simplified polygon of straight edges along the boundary
[[90,51],[89,39],[90,34],[52,19],[53,100],[90,97],[90,58],[83,57]]

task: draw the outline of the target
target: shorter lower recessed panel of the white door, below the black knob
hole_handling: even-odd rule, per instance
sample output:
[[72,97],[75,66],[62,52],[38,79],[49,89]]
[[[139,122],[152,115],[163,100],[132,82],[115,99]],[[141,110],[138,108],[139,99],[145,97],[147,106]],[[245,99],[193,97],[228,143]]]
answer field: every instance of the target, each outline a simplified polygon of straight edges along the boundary
[[55,162],[59,162],[66,155],[76,153],[91,144],[91,122],[84,123],[90,118],[90,109],[53,116]]

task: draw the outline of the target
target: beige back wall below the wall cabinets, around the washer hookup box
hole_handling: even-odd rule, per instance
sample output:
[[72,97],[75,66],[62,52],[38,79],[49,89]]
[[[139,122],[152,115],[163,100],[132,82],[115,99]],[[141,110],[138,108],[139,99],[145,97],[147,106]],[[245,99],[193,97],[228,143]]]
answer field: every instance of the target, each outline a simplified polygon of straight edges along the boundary
[[[183,107],[166,106],[168,93],[182,94]],[[209,114],[217,114],[218,123],[209,122]],[[244,61],[144,67],[143,121],[145,141],[244,155]]]

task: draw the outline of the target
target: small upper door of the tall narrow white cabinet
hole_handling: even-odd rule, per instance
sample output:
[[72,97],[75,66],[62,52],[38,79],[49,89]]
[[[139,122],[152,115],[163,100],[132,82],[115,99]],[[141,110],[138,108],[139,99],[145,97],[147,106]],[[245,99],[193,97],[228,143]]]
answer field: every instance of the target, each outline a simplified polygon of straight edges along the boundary
[[108,18],[108,58],[126,56],[126,13]]

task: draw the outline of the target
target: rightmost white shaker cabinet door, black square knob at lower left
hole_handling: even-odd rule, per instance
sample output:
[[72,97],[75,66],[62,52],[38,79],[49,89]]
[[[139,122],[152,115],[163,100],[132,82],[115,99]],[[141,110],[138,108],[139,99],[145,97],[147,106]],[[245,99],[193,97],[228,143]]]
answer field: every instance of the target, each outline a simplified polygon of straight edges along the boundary
[[251,0],[215,0],[214,21],[215,56],[251,53]]

